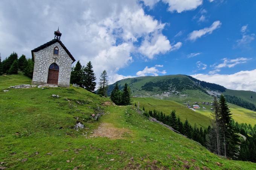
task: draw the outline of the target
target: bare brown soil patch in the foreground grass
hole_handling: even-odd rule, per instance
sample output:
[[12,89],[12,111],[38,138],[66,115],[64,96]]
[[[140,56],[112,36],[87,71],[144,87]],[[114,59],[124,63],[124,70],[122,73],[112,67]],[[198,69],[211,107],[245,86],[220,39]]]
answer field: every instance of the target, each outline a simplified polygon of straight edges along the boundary
[[94,137],[108,137],[111,139],[122,139],[123,134],[129,133],[128,129],[116,128],[111,123],[101,123],[94,131]]

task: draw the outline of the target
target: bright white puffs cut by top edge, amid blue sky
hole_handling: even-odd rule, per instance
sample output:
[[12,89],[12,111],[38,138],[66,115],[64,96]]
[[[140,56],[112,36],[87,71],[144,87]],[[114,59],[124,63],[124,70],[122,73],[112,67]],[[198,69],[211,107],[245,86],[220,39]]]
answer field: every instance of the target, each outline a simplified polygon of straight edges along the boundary
[[[160,0],[143,0],[144,4],[152,8]],[[196,9],[203,4],[203,0],[162,0],[169,5],[168,11],[181,13]]]

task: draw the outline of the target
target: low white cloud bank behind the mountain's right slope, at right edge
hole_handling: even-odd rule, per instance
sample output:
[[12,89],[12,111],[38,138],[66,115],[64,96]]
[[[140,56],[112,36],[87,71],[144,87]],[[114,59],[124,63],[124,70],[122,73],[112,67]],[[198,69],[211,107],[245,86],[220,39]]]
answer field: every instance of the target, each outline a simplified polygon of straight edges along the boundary
[[192,77],[210,83],[220,84],[227,89],[252,90],[256,92],[256,69],[239,71],[235,74],[195,74]]

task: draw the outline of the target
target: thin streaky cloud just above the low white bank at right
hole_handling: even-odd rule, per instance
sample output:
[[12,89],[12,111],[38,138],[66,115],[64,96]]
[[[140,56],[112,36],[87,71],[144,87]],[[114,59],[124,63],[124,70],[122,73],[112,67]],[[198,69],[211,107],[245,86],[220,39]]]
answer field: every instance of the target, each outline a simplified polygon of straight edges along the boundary
[[215,69],[220,69],[220,68],[224,68],[224,67],[232,68],[238,64],[246,63],[250,59],[245,58],[245,57],[239,57],[236,59],[224,58],[222,60],[223,60],[222,63],[211,65],[211,67],[214,67]]

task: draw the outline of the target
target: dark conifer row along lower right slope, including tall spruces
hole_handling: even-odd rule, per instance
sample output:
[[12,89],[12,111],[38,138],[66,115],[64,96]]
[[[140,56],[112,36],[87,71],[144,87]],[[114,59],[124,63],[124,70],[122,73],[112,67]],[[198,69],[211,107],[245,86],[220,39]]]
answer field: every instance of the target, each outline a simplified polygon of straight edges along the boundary
[[[175,131],[199,142],[219,156],[256,162],[256,125],[253,127],[250,124],[235,122],[223,95],[219,100],[214,98],[213,108],[213,120],[207,129],[198,128],[196,124],[191,126],[187,119],[184,123],[181,122],[175,110],[170,115],[165,115],[162,111],[147,112],[143,107],[143,114],[171,126]],[[244,135],[246,139],[244,140],[238,134]]]

